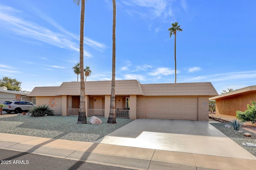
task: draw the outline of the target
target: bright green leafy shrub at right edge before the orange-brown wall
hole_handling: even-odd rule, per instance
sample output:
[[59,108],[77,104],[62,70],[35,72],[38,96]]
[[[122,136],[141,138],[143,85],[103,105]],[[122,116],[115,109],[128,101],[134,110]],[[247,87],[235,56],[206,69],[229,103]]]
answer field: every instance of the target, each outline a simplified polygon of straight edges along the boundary
[[251,101],[252,105],[247,105],[247,110],[236,111],[236,117],[243,122],[252,122],[256,123],[256,101]]

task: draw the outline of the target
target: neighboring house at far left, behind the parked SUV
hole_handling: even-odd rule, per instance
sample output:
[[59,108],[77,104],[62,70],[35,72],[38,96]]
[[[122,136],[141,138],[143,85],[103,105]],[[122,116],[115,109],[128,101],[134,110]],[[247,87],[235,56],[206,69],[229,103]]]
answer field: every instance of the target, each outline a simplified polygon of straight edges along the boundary
[[13,90],[8,89],[7,87],[0,87],[0,104],[3,104],[5,101],[10,100],[24,100],[24,101],[30,101],[34,104],[36,104],[36,98],[34,97],[28,97],[30,92],[28,91],[21,91],[21,90]]

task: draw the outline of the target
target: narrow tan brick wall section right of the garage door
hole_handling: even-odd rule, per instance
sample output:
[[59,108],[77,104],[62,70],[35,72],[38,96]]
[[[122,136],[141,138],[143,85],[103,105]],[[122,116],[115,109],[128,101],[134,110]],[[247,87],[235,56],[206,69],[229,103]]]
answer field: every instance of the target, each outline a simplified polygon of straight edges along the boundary
[[209,96],[198,97],[198,121],[209,121]]

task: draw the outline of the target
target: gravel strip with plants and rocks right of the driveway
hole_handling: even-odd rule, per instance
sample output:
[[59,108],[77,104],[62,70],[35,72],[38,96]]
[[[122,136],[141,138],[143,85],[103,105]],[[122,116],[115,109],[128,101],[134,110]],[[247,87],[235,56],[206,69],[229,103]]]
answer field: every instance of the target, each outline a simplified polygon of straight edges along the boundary
[[[244,146],[242,143],[254,143],[256,144],[256,134],[252,131],[248,131],[244,128],[240,128],[239,130],[242,130],[243,133],[239,133],[238,130],[234,130],[234,128],[227,128],[225,125],[228,125],[228,123],[210,123],[212,126],[216,127],[218,130],[220,130],[222,133],[224,133],[226,136],[228,136],[230,139],[234,140],[237,144],[242,146],[244,149],[246,149],[248,152],[250,152],[252,155],[256,156],[256,147],[250,147],[250,146]],[[244,133],[250,133],[251,137],[244,136]],[[218,148],[216,148],[218,149]],[[239,154],[239,153],[238,153]]]

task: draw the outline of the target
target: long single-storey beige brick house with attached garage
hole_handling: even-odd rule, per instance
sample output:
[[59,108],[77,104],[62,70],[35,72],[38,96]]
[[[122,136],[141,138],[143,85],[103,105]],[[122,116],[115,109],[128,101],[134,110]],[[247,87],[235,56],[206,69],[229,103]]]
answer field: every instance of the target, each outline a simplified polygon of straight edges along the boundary
[[[111,81],[86,81],[87,116],[108,117]],[[116,117],[208,121],[209,97],[218,95],[212,83],[140,84],[116,81]],[[78,115],[80,82],[35,87],[29,95],[37,105],[50,105],[56,115]]]

